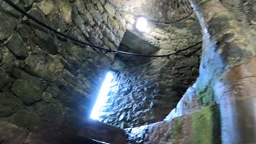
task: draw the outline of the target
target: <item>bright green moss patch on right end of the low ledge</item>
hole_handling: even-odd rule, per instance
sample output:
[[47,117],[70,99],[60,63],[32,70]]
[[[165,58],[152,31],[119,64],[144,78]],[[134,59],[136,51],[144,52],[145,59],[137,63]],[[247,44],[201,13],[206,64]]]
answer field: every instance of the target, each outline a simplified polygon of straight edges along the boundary
[[194,144],[222,143],[218,106],[207,106],[192,114],[192,138]]

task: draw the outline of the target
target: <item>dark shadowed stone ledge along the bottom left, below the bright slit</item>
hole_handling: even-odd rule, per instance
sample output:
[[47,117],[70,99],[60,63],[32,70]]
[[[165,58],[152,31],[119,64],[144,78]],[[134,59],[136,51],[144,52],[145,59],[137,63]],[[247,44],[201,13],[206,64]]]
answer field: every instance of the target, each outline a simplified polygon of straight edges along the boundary
[[[106,124],[99,122],[92,122],[88,126],[101,126],[110,131],[106,131],[106,133],[102,134],[102,131],[93,127],[90,128],[90,130],[87,129],[88,127],[82,127],[80,131],[75,131],[69,128],[62,128],[61,130],[30,131],[9,122],[0,122],[0,142],[3,144],[101,144],[105,142],[114,144],[126,143],[126,133],[124,130],[120,130],[113,126],[106,126]],[[98,141],[90,139],[92,135],[91,131],[93,131],[95,135],[100,135],[101,138],[97,137]],[[116,137],[110,138],[110,133],[115,134]],[[102,140],[103,142],[99,140]]]

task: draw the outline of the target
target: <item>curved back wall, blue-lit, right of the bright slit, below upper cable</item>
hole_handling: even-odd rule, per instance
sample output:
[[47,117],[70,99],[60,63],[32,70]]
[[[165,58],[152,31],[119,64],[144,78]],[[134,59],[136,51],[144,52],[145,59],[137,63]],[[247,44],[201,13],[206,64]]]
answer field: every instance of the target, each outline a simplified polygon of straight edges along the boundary
[[[132,28],[129,25],[128,30]],[[194,14],[173,24],[150,23],[149,27],[146,33],[134,28],[131,32],[158,47],[154,54],[174,53],[201,41],[201,29]],[[112,66],[115,76],[109,100],[100,120],[121,128],[162,121],[198,77],[200,55],[198,43],[170,58],[117,56]]]

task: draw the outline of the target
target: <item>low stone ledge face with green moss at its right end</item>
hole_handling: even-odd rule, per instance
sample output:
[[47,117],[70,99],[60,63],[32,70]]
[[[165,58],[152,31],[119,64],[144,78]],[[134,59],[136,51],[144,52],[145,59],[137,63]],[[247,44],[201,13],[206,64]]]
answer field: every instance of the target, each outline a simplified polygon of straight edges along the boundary
[[218,106],[148,126],[126,129],[127,143],[221,143]]

